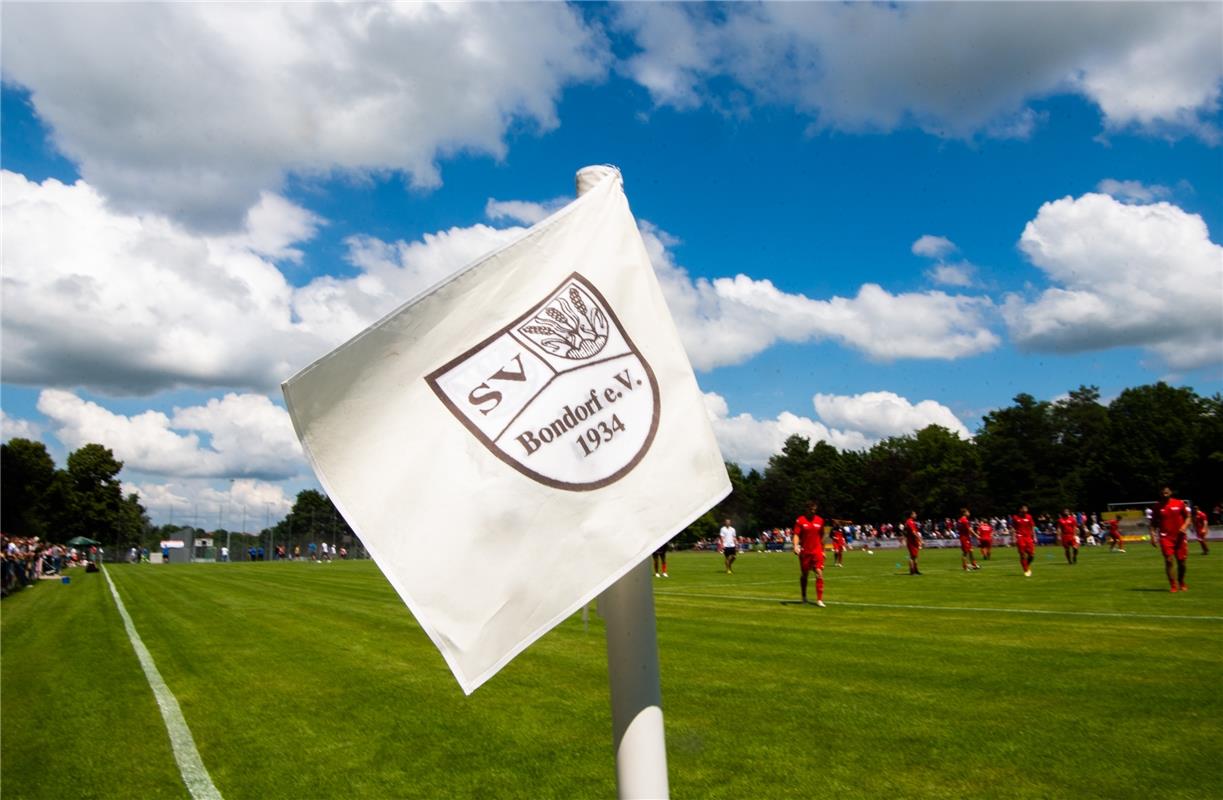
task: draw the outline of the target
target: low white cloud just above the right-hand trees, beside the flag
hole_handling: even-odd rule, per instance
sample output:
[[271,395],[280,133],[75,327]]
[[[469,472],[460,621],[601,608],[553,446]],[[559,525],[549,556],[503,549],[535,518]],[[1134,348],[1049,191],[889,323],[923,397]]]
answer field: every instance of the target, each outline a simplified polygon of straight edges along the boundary
[[911,404],[890,391],[859,395],[817,394],[812,405],[817,418],[783,411],[772,420],[750,413],[731,416],[725,398],[708,391],[706,410],[723,457],[741,466],[763,469],[791,435],[827,442],[838,450],[865,450],[876,442],[939,424],[961,437],[969,431],[947,406],[933,400]]

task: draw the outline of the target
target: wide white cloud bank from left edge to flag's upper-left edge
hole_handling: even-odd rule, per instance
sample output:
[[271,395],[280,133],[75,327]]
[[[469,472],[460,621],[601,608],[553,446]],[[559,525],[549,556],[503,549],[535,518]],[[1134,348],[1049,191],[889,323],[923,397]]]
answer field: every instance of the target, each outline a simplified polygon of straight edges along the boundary
[[264,194],[243,230],[204,236],[111,210],[84,181],[5,171],[2,368],[11,383],[149,394],[270,390],[399,303],[521,229],[416,242],[347,240],[357,274],[291,286],[276,261],[323,224]]

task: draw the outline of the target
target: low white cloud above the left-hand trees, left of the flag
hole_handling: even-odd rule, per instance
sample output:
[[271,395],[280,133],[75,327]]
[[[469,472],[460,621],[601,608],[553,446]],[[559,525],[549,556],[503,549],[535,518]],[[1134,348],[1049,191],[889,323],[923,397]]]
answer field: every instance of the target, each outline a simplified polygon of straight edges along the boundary
[[172,415],[124,416],[70,391],[45,389],[38,410],[67,449],[103,444],[136,472],[283,480],[306,471],[289,413],[263,395],[227,394]]

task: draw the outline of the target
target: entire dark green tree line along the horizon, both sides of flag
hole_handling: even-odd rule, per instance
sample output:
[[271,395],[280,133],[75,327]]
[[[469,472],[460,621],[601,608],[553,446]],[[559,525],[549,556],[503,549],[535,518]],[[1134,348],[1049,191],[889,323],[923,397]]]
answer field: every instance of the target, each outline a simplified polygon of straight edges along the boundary
[[[139,498],[122,494],[122,467],[100,444],[70,453],[62,470],[40,442],[0,445],[4,532],[55,542],[86,536],[111,547],[171,538],[180,527],[152,526]],[[977,515],[1009,514],[1020,504],[1033,513],[1103,511],[1109,503],[1153,500],[1168,483],[1210,510],[1223,500],[1223,396],[1163,382],[1126,389],[1107,405],[1096,387],[1054,401],[1020,394],[987,413],[970,439],[929,426],[841,451],[793,435],[763,472],[735,464],[726,470],[730,495],[682,539],[708,538],[728,517],[744,533],[789,527],[811,498],[826,517],[894,524],[911,510],[922,519],[954,517],[965,505]],[[352,530],[316,489],[300,492],[289,515],[259,536],[290,549],[356,541],[345,538]]]

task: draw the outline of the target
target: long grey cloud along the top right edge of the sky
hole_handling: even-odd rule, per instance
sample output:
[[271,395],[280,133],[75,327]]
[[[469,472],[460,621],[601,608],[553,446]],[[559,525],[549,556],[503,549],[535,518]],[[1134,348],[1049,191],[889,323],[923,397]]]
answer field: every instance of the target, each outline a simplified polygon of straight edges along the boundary
[[[627,4],[621,69],[659,105],[747,95],[817,127],[1027,136],[1029,103],[1079,93],[1109,130],[1210,139],[1223,78],[1218,4]],[[733,87],[724,88],[728,82]]]

